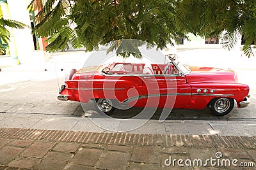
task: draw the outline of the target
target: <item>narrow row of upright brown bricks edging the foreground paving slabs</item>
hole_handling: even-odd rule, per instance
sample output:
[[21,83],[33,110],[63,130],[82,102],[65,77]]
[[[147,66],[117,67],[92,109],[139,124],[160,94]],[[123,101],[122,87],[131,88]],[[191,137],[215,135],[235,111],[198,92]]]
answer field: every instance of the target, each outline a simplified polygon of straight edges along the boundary
[[256,148],[256,137],[176,134],[127,134],[1,128],[0,138],[63,141],[105,145],[185,146],[193,148]]

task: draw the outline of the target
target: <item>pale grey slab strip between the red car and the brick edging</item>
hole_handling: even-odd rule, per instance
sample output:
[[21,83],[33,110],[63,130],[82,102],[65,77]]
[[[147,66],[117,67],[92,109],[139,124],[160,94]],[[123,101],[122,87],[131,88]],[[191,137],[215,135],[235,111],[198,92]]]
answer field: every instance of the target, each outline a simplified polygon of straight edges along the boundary
[[[89,111],[87,114],[92,113]],[[0,112],[0,128],[22,128],[83,132],[125,132],[130,134],[178,134],[256,136],[255,118],[207,118],[204,120],[150,120],[145,118],[104,118],[97,112],[84,115],[48,115]],[[234,129],[236,129],[234,131]],[[255,141],[256,143],[256,141]]]

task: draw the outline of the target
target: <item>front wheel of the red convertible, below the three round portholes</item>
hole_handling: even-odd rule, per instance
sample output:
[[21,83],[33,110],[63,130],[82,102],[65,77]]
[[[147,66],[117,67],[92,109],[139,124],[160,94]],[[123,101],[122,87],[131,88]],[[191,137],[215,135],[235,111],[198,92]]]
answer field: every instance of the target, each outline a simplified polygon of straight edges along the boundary
[[234,108],[234,99],[231,98],[216,98],[210,102],[212,113],[216,116],[224,116],[230,113]]

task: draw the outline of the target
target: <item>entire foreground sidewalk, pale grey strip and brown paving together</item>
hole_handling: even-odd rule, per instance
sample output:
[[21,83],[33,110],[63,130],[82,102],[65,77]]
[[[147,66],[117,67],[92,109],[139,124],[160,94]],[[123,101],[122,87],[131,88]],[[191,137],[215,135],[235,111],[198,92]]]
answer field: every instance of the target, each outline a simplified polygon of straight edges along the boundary
[[[122,122],[109,132],[84,117],[1,113],[0,169],[180,169],[179,159],[202,159],[202,165],[184,169],[256,169],[253,121],[149,120],[139,129],[120,132]],[[166,166],[170,157],[176,162]],[[211,158],[228,159],[230,166],[204,166]],[[237,167],[231,164],[234,159]],[[238,167],[241,163],[251,167]]]

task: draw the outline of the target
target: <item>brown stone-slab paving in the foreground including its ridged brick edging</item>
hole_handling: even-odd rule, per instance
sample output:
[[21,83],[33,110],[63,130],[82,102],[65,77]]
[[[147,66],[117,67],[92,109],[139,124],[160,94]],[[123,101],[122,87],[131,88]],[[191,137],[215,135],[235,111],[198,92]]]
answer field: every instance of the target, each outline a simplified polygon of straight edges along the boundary
[[255,148],[245,136],[1,128],[0,169],[256,169]]

